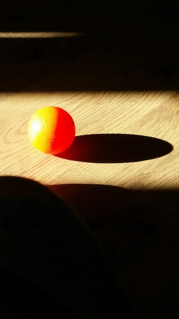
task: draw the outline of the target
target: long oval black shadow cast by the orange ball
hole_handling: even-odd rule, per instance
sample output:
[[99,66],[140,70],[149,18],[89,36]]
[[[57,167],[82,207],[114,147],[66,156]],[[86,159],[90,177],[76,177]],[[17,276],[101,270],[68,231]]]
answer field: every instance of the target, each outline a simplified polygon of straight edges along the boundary
[[76,136],[73,144],[55,156],[90,163],[128,163],[164,156],[172,151],[166,141],[140,135],[94,134]]

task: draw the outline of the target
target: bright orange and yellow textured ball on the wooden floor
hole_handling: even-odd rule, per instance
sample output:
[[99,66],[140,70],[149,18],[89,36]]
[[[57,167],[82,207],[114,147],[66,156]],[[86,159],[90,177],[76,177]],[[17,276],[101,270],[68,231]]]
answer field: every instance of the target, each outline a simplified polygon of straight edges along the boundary
[[28,122],[28,139],[46,154],[65,151],[74,141],[75,123],[71,115],[57,107],[45,107],[33,114]]

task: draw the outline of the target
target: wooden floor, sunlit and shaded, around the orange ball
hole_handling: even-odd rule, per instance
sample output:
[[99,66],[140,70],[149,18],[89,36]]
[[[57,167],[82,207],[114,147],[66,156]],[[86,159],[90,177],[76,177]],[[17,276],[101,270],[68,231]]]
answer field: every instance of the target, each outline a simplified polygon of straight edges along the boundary
[[[178,316],[177,1],[9,3],[0,13],[1,175],[39,181],[72,206],[138,318]],[[57,156],[27,137],[29,118],[48,105],[76,125]]]

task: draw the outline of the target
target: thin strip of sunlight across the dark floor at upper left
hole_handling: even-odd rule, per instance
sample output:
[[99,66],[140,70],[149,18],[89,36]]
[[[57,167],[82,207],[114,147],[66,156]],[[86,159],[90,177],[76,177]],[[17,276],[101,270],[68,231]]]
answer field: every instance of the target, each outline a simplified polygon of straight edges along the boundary
[[71,38],[82,36],[77,32],[0,32],[0,38]]

